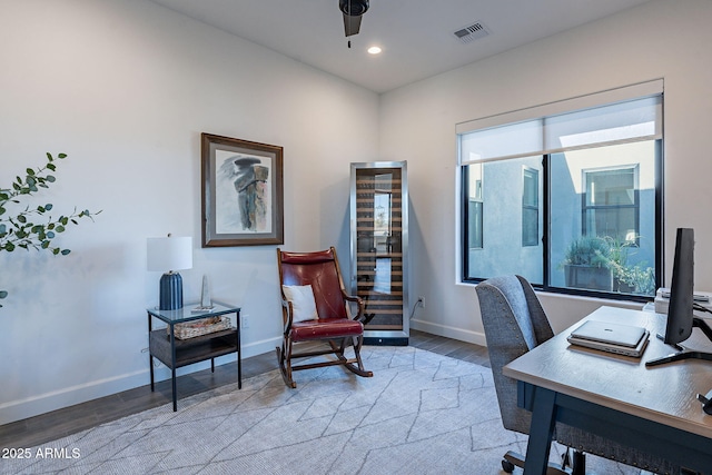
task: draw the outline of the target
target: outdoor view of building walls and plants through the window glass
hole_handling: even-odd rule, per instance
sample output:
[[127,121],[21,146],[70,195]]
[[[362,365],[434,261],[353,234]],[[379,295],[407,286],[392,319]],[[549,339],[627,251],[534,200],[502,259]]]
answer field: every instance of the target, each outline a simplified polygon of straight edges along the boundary
[[659,150],[645,140],[467,165],[479,178],[466,181],[465,280],[518,274],[548,289],[653,296]]

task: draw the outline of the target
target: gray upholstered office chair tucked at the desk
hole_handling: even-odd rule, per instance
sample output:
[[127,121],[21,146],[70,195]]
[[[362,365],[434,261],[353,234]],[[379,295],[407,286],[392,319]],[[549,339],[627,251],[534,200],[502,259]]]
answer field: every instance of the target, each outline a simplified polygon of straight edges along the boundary
[[[532,414],[517,406],[517,383],[504,376],[502,368],[550,339],[554,333],[534,289],[524,277],[495,277],[481,283],[475,289],[479,299],[502,423],[508,431],[528,434]],[[556,425],[555,439],[574,448],[573,462],[570,462],[567,451],[562,465],[551,464],[547,474],[584,475],[584,453],[600,455],[659,474],[680,473],[680,467],[673,466],[668,461],[642,454],[563,424]],[[566,469],[568,465],[571,465],[571,472]],[[524,467],[524,457],[510,451],[504,455],[502,468],[512,473],[515,466]]]

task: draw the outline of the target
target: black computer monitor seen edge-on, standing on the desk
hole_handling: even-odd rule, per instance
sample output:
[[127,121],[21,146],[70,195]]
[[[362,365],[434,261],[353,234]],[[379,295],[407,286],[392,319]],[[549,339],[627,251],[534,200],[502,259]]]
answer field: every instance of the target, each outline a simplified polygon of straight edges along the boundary
[[694,230],[679,228],[675,238],[675,258],[664,336],[664,342],[674,346],[679,353],[651,359],[645,362],[645,366],[657,366],[691,358],[712,360],[712,354],[689,352],[680,346],[682,342],[690,338],[693,327],[700,328],[712,340],[712,329],[702,318],[694,316]]

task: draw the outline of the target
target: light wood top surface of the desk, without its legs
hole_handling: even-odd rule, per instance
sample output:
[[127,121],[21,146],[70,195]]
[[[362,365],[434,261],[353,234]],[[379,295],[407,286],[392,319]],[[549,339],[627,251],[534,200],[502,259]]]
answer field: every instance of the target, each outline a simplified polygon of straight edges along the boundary
[[[573,346],[566,337],[578,327],[577,323],[510,363],[504,375],[712,438],[712,415],[706,415],[696,399],[698,393],[712,390],[712,362],[645,367],[646,360],[674,353],[655,337],[664,334],[664,315],[601,307],[584,318],[587,319],[646,327],[650,344],[641,358]],[[699,328],[683,346],[712,352],[712,343]]]

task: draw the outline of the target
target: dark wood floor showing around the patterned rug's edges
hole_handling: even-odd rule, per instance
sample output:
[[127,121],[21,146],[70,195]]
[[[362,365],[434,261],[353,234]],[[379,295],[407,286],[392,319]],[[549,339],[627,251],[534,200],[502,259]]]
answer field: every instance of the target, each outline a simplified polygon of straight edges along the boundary
[[[418,330],[411,330],[409,344],[416,348],[427,349],[439,355],[490,366],[487,348],[483,346]],[[243,378],[249,378],[276,368],[277,357],[274,352],[246,358],[243,360]],[[179,397],[236,383],[236,373],[233,365],[221,365],[215,368],[215,373],[206,369],[181,376],[178,378]],[[157,383],[156,392],[154,393],[151,393],[150,385],[137,387],[123,393],[2,425],[0,426],[0,448],[33,447],[46,444],[99,424],[170,403],[171,400],[170,379]],[[180,410],[180,399],[178,400],[178,410]]]

